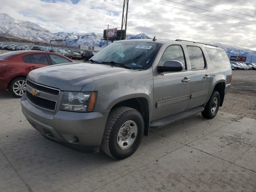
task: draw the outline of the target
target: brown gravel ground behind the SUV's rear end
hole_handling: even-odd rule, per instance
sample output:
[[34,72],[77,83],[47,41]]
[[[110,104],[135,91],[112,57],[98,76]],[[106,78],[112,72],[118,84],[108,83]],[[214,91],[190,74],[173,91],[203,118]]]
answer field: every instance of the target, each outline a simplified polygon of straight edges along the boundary
[[221,111],[256,119],[256,70],[233,70]]

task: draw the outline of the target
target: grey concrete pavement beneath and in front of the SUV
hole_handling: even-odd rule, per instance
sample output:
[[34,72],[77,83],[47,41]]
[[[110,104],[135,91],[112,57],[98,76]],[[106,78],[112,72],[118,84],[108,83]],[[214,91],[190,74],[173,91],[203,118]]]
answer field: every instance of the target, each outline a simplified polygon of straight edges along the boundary
[[135,154],[116,161],[44,139],[6,92],[0,106],[0,192],[256,191],[254,119],[196,114],[151,129]]

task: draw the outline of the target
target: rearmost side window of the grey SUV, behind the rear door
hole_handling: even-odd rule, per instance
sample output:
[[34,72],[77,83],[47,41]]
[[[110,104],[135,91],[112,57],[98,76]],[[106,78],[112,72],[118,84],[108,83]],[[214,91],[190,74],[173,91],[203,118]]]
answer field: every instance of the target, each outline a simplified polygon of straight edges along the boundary
[[224,50],[205,48],[214,68],[230,68],[230,62]]

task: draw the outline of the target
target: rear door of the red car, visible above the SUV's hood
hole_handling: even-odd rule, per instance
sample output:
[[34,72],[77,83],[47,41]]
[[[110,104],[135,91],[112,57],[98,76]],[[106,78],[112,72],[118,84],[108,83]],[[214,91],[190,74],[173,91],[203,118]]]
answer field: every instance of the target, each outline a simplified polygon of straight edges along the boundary
[[44,53],[25,55],[22,57],[22,59],[26,63],[26,70],[28,72],[37,68],[48,66],[50,64],[46,54]]

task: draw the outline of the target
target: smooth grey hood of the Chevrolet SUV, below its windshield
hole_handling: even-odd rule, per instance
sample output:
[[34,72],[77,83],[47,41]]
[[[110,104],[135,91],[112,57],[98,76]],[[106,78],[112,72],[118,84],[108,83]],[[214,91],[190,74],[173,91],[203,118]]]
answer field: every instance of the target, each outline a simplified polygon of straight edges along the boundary
[[33,82],[62,91],[80,91],[85,84],[136,70],[92,63],[67,63],[39,68],[28,74]]

